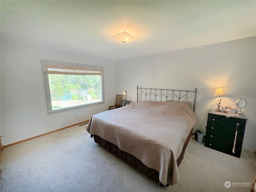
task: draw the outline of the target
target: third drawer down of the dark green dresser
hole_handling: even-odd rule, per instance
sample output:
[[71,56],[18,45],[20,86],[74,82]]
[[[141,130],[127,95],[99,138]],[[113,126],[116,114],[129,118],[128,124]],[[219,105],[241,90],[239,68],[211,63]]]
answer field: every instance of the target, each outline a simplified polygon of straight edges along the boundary
[[[206,132],[206,136],[205,138],[208,140],[212,140],[212,141],[216,141],[219,142],[221,144],[225,144],[228,146],[234,146],[234,140],[235,140],[235,133],[233,132],[232,134],[229,135],[222,135],[222,134],[218,134],[215,132]],[[242,144],[243,144],[243,134],[237,134],[236,136],[236,148],[240,148],[242,149]],[[242,139],[241,139],[242,137]]]

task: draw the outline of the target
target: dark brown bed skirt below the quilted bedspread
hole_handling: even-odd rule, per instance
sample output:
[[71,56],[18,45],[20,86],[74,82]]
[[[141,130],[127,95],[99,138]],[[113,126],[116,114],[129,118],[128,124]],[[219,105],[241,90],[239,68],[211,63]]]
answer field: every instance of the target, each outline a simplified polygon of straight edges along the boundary
[[[159,181],[158,171],[147,167],[138,158],[134,157],[133,155],[131,155],[127,152],[120,150],[118,148],[118,146],[116,146],[115,144],[112,144],[111,142],[108,142],[97,135],[91,135],[91,137],[92,136],[94,137],[94,141],[96,143],[100,144],[100,146],[106,148],[111,153],[119,156],[122,160],[125,160],[126,162],[128,162],[129,164],[131,164],[132,166],[137,168],[138,170],[142,171],[144,174],[148,175],[150,178],[156,180],[160,184],[160,186],[163,186],[163,184],[161,184]],[[182,153],[180,154],[180,156],[178,157],[178,159],[176,161],[178,166],[180,165],[180,163],[183,159],[185,149],[188,145],[188,142],[189,142],[191,136],[192,136],[192,130],[190,131],[190,134],[189,134],[188,138],[186,139],[186,142],[184,143]],[[169,186],[169,184],[167,184],[166,186]]]

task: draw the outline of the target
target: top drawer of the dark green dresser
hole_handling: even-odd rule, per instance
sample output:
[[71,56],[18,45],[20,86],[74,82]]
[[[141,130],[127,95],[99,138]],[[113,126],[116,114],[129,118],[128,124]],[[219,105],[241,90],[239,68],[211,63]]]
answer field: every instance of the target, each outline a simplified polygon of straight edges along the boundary
[[221,115],[208,114],[207,124],[217,124],[220,126],[226,126],[235,129],[243,129],[245,128],[246,120],[226,117]]

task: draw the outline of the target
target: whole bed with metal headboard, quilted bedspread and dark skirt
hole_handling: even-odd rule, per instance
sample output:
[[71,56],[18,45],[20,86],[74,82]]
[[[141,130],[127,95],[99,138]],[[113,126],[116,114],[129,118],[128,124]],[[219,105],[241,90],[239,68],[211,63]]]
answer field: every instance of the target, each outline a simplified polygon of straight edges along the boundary
[[137,102],[93,115],[86,130],[96,143],[156,179],[160,186],[175,184],[195,124],[196,92],[197,88],[137,86]]

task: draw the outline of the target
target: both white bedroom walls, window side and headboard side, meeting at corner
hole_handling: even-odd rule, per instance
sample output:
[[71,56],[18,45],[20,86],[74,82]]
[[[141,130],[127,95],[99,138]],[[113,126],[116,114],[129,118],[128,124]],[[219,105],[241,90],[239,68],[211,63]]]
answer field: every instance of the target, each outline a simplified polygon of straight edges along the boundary
[[[136,102],[136,85],[153,88],[198,88],[196,125],[203,129],[208,109],[216,109],[215,88],[235,106],[246,98],[248,118],[243,148],[256,150],[256,37],[115,61],[1,41],[1,140],[7,145],[90,119],[108,110],[116,93],[127,90]],[[105,104],[48,115],[40,59],[104,66]],[[117,91],[116,91],[117,90]],[[76,118],[76,115],[79,118]]]

